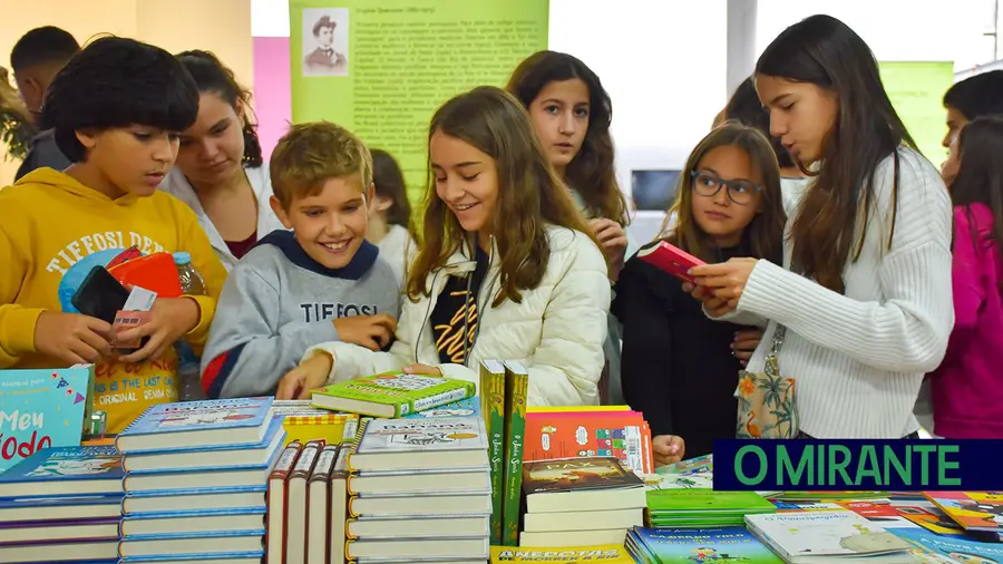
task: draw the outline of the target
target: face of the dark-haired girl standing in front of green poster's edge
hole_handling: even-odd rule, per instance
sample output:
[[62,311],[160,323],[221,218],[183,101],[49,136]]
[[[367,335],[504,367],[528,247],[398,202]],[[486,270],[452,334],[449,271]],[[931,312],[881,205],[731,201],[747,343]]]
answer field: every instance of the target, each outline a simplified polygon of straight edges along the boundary
[[533,128],[554,168],[563,171],[582,149],[588,130],[588,87],[581,79],[547,82],[529,104]]

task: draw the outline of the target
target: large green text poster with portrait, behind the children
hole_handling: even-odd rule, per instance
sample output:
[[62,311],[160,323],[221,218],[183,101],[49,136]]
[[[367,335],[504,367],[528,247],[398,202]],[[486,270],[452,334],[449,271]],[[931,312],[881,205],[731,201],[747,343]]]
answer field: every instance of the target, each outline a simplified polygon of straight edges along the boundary
[[327,119],[426,183],[428,123],[450,97],[505,86],[547,48],[546,0],[290,0],[293,123]]

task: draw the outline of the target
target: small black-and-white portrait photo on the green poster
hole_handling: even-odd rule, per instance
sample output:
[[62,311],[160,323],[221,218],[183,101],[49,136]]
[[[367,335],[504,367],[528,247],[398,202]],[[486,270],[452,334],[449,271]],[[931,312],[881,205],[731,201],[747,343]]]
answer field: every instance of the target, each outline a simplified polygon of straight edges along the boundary
[[303,10],[303,76],[348,75],[349,9]]

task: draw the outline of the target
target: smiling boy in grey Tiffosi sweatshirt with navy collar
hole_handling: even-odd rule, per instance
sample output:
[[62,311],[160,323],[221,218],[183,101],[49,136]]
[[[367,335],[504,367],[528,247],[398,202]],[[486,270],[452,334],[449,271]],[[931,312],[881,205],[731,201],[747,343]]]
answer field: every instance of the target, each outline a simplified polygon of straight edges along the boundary
[[372,157],[348,130],[294,125],[271,157],[272,210],[286,228],[231,271],[203,354],[211,398],[269,396],[308,348],[381,350],[400,314],[393,269],[366,241]]

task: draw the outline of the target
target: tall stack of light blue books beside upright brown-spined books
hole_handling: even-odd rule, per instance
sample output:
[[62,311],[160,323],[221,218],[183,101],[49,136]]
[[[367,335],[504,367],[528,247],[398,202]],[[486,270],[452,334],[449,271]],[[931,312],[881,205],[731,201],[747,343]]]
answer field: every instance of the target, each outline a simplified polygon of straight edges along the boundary
[[285,437],[271,403],[154,406],[116,438],[125,469],[123,558],[263,556],[265,485]]

